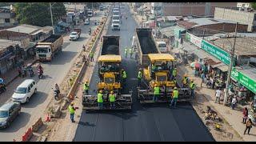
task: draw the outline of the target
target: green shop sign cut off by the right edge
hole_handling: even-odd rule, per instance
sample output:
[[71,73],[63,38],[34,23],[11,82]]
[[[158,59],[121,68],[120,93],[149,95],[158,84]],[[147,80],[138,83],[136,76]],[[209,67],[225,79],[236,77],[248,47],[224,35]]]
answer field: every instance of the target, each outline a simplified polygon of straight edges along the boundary
[[245,74],[242,74],[235,68],[233,68],[231,72],[231,78],[240,82],[243,86],[246,86],[247,89],[251,90],[252,92],[254,92],[254,94],[256,94],[256,82],[253,79],[249,78]]

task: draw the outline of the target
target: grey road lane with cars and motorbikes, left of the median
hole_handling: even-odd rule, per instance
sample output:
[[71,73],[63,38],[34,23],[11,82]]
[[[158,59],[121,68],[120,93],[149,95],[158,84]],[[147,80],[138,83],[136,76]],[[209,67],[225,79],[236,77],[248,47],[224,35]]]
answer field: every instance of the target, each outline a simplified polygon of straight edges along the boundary
[[[94,20],[101,19],[103,12],[98,12],[96,17],[90,18],[90,26],[92,26],[92,31],[96,26],[94,26]],[[62,54],[58,54],[52,62],[44,62],[42,67],[44,68],[45,78],[38,80],[37,75],[34,76],[34,80],[38,82],[38,94],[30,98],[30,102],[22,105],[22,113],[11,123],[11,126],[6,130],[0,130],[1,141],[13,141],[21,140],[22,134],[32,126],[32,122],[35,122],[39,117],[45,119],[44,110],[46,106],[51,101],[52,87],[54,83],[61,83],[62,79],[66,76],[72,63],[78,57],[78,54],[82,50],[82,45],[84,44],[86,38],[90,38],[89,27],[82,25],[81,38],[78,41],[70,42],[68,37],[64,38],[63,51]],[[34,72],[37,72],[34,69]],[[14,80],[13,83],[8,86],[8,90],[4,95],[1,95],[0,104],[8,101],[14,92],[14,89],[23,81],[25,78],[18,78]]]

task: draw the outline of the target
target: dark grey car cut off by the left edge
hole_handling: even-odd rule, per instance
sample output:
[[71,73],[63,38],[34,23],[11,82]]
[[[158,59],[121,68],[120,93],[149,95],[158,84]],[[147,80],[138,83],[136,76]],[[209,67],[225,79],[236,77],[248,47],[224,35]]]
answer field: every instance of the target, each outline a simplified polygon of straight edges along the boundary
[[21,113],[21,104],[17,102],[8,102],[0,107],[0,129],[10,126],[10,122]]

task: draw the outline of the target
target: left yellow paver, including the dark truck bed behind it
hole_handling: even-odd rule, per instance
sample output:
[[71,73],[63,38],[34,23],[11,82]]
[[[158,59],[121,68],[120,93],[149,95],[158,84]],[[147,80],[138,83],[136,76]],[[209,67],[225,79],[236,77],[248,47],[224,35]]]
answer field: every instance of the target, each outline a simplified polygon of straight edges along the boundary
[[[102,90],[103,110],[130,110],[132,104],[131,93],[122,94],[121,62],[119,52],[119,36],[103,36],[101,55],[98,57],[98,91]],[[114,91],[115,108],[110,109],[109,94]],[[84,95],[83,108],[86,110],[98,110],[96,95]]]

